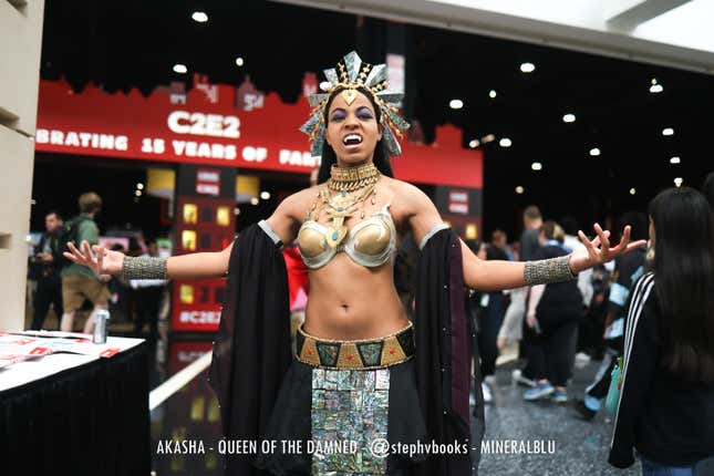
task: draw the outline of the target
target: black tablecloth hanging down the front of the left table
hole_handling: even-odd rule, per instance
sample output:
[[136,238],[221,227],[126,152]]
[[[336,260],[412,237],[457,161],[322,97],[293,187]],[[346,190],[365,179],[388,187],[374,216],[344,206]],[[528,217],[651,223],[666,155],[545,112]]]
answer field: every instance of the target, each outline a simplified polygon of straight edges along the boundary
[[1,475],[149,472],[146,343],[0,392]]

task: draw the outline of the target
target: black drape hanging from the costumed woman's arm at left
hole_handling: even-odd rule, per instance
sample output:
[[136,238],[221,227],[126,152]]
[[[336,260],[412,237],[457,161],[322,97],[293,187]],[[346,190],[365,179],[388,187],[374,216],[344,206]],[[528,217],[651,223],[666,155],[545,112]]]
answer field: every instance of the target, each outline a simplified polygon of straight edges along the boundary
[[[290,365],[288,275],[281,244],[258,226],[234,244],[210,384],[220,405],[224,436],[259,441]],[[227,475],[266,475],[255,455],[227,456]]]

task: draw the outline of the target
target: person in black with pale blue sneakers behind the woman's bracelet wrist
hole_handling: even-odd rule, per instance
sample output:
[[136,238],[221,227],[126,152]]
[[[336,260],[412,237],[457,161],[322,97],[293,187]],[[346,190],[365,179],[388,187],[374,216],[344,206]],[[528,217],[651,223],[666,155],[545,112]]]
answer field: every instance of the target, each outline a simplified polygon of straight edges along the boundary
[[[555,221],[546,221],[540,229],[542,248],[537,256],[555,258],[570,253],[563,242],[565,231]],[[556,403],[566,403],[566,385],[576,356],[578,322],[582,314],[582,294],[578,281],[534,286],[526,311],[527,324],[536,332],[528,360],[536,387],[524,393],[524,400],[536,401],[552,396]]]

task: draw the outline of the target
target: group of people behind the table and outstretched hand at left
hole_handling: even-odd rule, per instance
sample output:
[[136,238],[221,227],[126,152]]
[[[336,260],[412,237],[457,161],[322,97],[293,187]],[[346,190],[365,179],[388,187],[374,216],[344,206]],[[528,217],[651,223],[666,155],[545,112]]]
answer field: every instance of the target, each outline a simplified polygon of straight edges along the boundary
[[[124,280],[120,276],[96,275],[89,268],[68,260],[63,252],[68,242],[99,244],[100,230],[95,216],[102,209],[102,198],[93,192],[79,197],[79,214],[64,220],[56,210],[45,214],[45,230],[34,246],[28,267],[28,279],[34,281],[31,298],[33,317],[31,329],[45,328],[51,308],[58,317],[58,328],[64,332],[75,330],[77,312],[91,306],[82,331],[91,333],[94,314],[110,310],[116,320],[133,321],[134,334],[144,335],[148,323],[149,342],[158,338],[159,308],[164,301],[165,280]],[[138,241],[127,250],[114,245],[113,250],[131,256],[158,256],[155,240]],[[77,329],[79,330],[79,329]]]

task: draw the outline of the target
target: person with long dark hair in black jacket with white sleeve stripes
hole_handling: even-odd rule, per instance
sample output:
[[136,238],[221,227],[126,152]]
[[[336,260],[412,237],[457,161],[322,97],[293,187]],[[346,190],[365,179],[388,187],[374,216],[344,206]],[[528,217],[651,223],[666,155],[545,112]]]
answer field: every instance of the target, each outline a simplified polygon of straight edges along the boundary
[[[712,474],[714,218],[704,196],[672,188],[650,203],[653,272],[634,284],[609,463],[644,476]],[[697,468],[699,467],[699,468]]]

